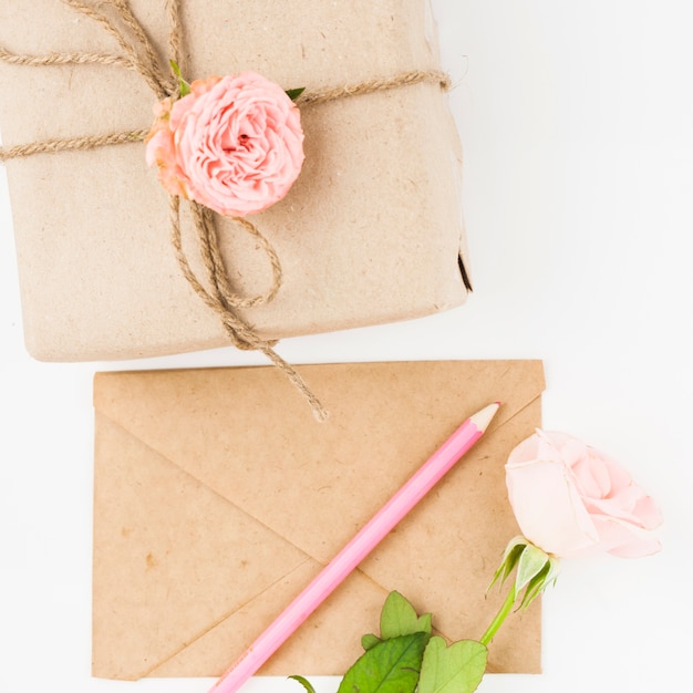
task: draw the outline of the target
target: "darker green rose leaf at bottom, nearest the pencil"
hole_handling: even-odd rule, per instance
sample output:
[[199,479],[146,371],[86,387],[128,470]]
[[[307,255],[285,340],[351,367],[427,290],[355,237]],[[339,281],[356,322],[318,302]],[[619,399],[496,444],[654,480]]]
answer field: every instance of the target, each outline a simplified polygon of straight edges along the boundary
[[414,693],[428,638],[412,633],[379,642],[344,674],[338,693]]

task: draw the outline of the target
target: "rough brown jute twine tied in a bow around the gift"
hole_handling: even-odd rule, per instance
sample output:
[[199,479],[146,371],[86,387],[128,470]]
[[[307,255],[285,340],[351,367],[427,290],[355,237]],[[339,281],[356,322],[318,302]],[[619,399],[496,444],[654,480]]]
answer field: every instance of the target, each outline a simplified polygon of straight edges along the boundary
[[[104,0],[108,4],[120,23],[126,30],[120,28],[111,17],[96,10],[82,0],[60,0],[69,8],[79,12],[94,22],[115,39],[122,54],[107,53],[48,53],[45,55],[23,55],[6,51],[0,46],[0,60],[18,65],[61,65],[61,64],[102,64],[115,65],[136,71],[152,89],[158,101],[173,96],[179,96],[179,82],[176,74],[162,70],[161,60],[144,28],[133,14],[127,0]],[[166,13],[169,25],[168,53],[170,61],[182,65],[183,25],[180,22],[179,0],[167,0]],[[128,33],[130,35],[126,35]],[[334,101],[344,96],[366,94],[375,91],[416,84],[420,82],[434,82],[442,89],[449,87],[446,74],[437,71],[412,71],[395,75],[385,80],[372,80],[353,85],[339,86],[320,92],[303,92],[297,100],[298,105],[313,105]],[[39,153],[58,153],[71,149],[92,149],[95,147],[115,144],[142,142],[148,134],[148,130],[135,130],[131,132],[108,133],[105,135],[87,135],[84,137],[55,138],[42,142],[18,145],[14,147],[0,148],[0,161],[30,156]],[[190,263],[183,250],[180,231],[180,198],[169,195],[170,232],[178,265],[183,275],[198,293],[203,301],[220,318],[225,331],[231,343],[238,349],[257,350],[262,352],[271,363],[279,368],[302,393],[311,406],[318,421],[327,418],[327,412],[318,397],[311,392],[299,373],[287,363],[273,349],[276,341],[260,339],[252,328],[238,314],[239,309],[252,308],[271,301],[281,286],[281,265],[271,244],[257,229],[257,227],[244,217],[232,217],[234,221],[241,226],[248,234],[254,236],[267,254],[272,269],[272,285],[261,294],[255,297],[241,297],[230,286],[226,272],[217,230],[214,223],[214,214],[207,207],[188,200],[193,221],[197,231],[198,249],[207,273],[205,286],[193,271]]]

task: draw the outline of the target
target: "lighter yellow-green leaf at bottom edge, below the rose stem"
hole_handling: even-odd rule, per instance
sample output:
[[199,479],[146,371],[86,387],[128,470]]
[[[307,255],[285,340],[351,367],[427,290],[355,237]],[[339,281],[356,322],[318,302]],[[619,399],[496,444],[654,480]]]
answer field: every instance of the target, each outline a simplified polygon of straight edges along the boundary
[[484,678],[488,650],[476,640],[459,640],[446,647],[432,638],[421,666],[418,693],[472,693]]

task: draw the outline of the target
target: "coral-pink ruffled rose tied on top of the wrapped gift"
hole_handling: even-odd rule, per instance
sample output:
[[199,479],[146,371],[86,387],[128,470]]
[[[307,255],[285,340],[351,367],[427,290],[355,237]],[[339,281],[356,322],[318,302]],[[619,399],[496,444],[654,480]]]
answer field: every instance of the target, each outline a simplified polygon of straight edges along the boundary
[[196,80],[176,102],[165,99],[146,143],[146,159],[172,195],[227,216],[279,201],[303,164],[300,113],[286,92],[255,72]]

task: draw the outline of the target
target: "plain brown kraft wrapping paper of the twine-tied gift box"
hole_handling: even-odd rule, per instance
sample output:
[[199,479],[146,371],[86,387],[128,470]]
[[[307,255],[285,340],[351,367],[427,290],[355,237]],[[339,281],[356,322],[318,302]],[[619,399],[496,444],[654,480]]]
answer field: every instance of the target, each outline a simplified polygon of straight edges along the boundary
[[[163,3],[132,0],[167,64]],[[188,79],[255,70],[308,91],[438,69],[425,0],[184,0]],[[107,8],[106,3],[99,6]],[[107,11],[107,10],[106,10]],[[59,0],[3,0],[13,53],[117,53]],[[6,147],[147,128],[155,101],[134,71],[0,61]],[[447,96],[403,86],[302,107],[307,161],[289,195],[250,219],[275,247],[283,283],[242,312],[263,338],[404,320],[464,302],[461,147]],[[7,162],[27,348],[46,361],[111,360],[228,344],[180,273],[168,200],[142,143]],[[204,278],[189,219],[184,246]],[[255,240],[220,224],[231,285],[271,285]]]

